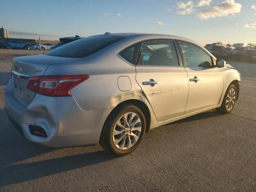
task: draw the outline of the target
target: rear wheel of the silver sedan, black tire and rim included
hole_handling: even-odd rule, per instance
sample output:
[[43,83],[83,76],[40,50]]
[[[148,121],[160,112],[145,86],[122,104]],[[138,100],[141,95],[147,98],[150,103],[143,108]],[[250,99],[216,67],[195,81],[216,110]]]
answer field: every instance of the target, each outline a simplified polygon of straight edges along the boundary
[[100,136],[100,145],[111,154],[123,156],[133,152],[146,130],[146,118],[136,106],[120,106],[107,118]]

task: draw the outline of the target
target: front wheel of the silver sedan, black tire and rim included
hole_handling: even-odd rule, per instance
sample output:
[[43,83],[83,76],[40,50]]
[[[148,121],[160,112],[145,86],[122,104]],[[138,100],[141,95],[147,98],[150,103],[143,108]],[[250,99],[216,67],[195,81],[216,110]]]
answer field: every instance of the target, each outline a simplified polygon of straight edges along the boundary
[[216,108],[216,110],[222,114],[230,113],[234,109],[234,106],[236,104],[236,97],[236,86],[234,84],[230,84],[230,86],[228,86],[228,89],[226,90],[221,106],[219,108]]

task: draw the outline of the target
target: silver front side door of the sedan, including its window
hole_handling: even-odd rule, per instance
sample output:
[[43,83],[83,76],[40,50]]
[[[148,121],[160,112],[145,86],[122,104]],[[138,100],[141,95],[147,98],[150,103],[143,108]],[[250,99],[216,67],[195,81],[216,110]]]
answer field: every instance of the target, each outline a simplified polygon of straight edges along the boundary
[[212,57],[199,46],[183,41],[179,45],[189,82],[184,114],[217,105],[223,90],[222,68],[215,67]]

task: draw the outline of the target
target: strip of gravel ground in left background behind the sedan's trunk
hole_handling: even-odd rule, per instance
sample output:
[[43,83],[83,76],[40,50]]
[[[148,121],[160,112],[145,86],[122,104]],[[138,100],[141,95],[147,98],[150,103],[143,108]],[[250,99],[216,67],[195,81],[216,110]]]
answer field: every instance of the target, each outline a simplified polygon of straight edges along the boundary
[[48,52],[48,50],[13,50],[13,49],[0,49],[0,60],[12,60],[14,57],[25,55],[38,55]]

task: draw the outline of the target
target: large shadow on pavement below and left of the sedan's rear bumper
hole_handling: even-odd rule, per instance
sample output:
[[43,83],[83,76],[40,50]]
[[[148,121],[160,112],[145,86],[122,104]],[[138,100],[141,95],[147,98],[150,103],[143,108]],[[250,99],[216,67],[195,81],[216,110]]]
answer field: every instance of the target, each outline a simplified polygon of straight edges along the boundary
[[[34,180],[52,174],[74,170],[106,162],[116,158],[100,147],[91,146],[89,152],[81,153],[78,148],[70,148],[73,155],[65,152],[63,148],[47,148],[34,144],[16,130],[8,120],[4,109],[0,109],[0,187],[29,180]],[[7,147],[8,146],[8,147]],[[7,149],[11,149],[8,150]],[[80,149],[83,150],[83,149]],[[48,154],[67,155],[60,157]],[[36,160],[50,158],[47,160]]]

